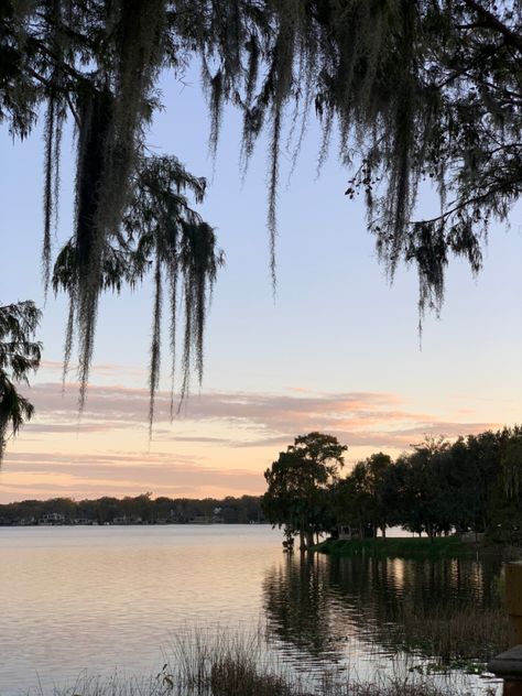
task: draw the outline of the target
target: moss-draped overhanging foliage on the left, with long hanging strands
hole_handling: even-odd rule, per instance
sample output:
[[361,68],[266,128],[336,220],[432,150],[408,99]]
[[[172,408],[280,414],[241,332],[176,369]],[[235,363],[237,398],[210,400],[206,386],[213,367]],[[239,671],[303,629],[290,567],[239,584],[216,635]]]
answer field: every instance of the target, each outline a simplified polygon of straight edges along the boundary
[[[42,111],[44,139],[43,274],[70,302],[64,377],[78,339],[80,409],[93,358],[99,296],[135,287],[149,271],[155,296],[150,362],[150,422],[160,373],[163,284],[167,282],[171,345],[176,303],[183,293],[182,399],[193,362],[203,373],[203,334],[209,292],[222,254],[214,230],[184,192],[203,200],[205,181],[173,156],[148,152],[144,133],[160,104],[155,90],[163,67],[175,68],[164,0],[34,3],[8,0],[0,11],[3,37],[0,120],[25,138]],[[172,19],[172,17],[171,17]],[[64,124],[74,120],[77,146],[75,220],[70,239],[52,271],[51,238],[59,198]],[[173,368],[174,373],[174,349]]]

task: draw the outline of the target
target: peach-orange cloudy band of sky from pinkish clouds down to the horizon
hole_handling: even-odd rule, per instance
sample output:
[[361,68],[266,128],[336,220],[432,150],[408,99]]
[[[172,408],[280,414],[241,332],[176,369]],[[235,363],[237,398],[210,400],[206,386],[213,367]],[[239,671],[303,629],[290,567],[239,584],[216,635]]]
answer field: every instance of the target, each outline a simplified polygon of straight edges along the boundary
[[[77,385],[34,385],[36,416],[0,470],[0,500],[28,496],[225,496],[261,493],[262,471],[303,433],[336,435],[349,446],[347,464],[382,449],[392,456],[425,435],[458,435],[499,427],[418,412],[384,392],[208,392],[191,396],[170,422],[170,394],[160,392],[153,442],[149,394],[122,384],[89,387],[81,418]],[[463,420],[461,420],[463,418]],[[466,421],[464,421],[466,418]]]

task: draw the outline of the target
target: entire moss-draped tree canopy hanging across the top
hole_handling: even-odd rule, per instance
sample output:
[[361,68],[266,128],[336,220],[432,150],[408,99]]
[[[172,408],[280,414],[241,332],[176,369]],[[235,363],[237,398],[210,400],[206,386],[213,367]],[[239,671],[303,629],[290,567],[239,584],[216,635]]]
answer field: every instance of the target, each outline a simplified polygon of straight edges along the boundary
[[[133,286],[148,271],[156,287],[151,416],[165,281],[172,340],[176,289],[185,292],[182,391],[194,354],[202,373],[208,291],[221,254],[183,193],[197,203],[205,183],[146,148],[161,74],[180,76],[199,62],[211,149],[227,102],[242,112],[244,164],[269,129],[273,273],[285,123],[296,157],[315,111],[319,164],[336,127],[350,172],[339,174],[349,177],[346,194],[363,194],[390,276],[400,262],[416,267],[422,315],[441,308],[452,254],[479,271],[491,222],[505,221],[520,196],[521,28],[521,0],[6,0],[0,120],[25,138],[44,119],[43,271],[70,298],[65,358],[76,333],[80,401],[100,294]],[[66,119],[76,129],[75,221],[53,270]],[[424,185],[438,194],[433,216],[416,207]]]

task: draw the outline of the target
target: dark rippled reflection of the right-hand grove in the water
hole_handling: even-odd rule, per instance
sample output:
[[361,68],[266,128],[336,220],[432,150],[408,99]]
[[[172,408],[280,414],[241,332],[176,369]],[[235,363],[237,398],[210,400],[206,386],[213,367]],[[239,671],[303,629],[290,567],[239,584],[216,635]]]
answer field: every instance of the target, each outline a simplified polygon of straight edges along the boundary
[[333,660],[348,640],[395,648],[407,609],[418,617],[498,601],[500,559],[404,561],[285,557],[263,583],[270,629],[285,643]]

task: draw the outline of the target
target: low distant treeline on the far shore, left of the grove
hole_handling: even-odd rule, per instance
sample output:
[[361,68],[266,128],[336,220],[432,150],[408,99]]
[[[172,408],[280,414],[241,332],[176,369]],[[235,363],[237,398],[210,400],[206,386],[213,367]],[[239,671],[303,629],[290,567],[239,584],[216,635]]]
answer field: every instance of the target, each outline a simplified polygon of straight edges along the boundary
[[263,522],[257,496],[205,498],[135,498],[97,500],[24,500],[0,505],[0,524],[187,524]]

